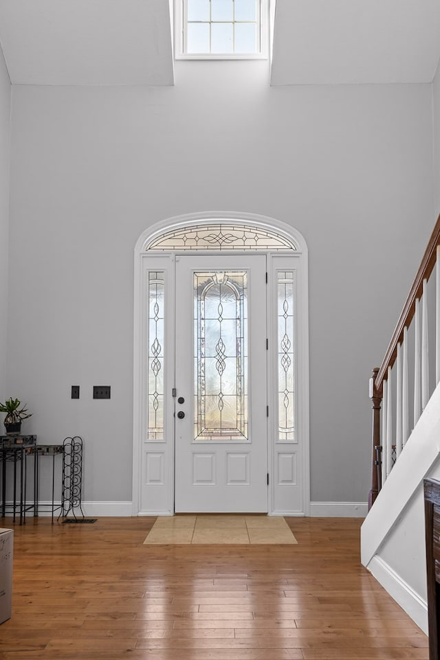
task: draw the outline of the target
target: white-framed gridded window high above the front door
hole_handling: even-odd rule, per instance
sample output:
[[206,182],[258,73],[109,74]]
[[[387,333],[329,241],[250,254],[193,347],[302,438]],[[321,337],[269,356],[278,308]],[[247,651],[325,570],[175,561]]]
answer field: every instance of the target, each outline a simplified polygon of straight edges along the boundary
[[177,0],[177,57],[265,57],[267,0]]

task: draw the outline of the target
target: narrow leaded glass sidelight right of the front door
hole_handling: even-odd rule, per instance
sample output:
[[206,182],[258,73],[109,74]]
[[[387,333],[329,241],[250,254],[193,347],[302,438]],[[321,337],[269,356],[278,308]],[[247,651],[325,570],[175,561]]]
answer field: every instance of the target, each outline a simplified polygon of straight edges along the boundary
[[294,440],[294,273],[278,271],[278,439]]

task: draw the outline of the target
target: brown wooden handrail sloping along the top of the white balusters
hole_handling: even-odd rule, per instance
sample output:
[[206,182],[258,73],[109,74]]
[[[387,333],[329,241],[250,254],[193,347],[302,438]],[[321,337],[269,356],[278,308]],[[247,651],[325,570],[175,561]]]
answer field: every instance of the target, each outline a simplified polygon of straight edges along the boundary
[[397,356],[397,344],[401,343],[404,337],[404,328],[408,328],[412,321],[412,317],[415,315],[415,301],[421,297],[421,292],[423,290],[423,280],[428,280],[430,274],[432,273],[435,262],[437,259],[437,245],[440,244],[440,216],[437,218],[437,223],[435,223],[434,230],[432,231],[431,238],[428,242],[428,247],[423,255],[419,270],[415,276],[415,280],[412,283],[410,293],[404,304],[404,308],[401,311],[399,321],[397,321],[397,326],[393,332],[393,337],[386,349],[382,365],[380,365],[377,376],[375,376],[375,391],[377,396],[382,397],[383,383],[386,379],[386,374],[388,373],[388,367],[393,367]]

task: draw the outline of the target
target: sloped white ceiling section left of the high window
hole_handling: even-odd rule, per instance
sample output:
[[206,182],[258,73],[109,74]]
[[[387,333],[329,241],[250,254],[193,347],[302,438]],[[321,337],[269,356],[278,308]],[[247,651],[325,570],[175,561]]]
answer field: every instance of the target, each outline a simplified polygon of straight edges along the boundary
[[0,0],[12,84],[173,84],[168,0]]

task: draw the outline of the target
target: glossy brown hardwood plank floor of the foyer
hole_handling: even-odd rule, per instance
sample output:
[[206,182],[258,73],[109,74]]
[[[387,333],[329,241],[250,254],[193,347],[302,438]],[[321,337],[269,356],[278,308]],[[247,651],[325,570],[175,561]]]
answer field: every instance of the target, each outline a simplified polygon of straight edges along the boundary
[[0,659],[428,659],[360,565],[362,521],[287,519],[298,545],[143,545],[154,521],[16,525]]

